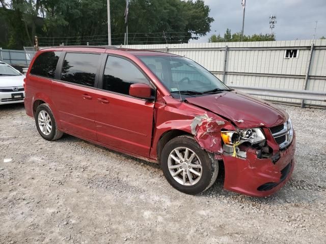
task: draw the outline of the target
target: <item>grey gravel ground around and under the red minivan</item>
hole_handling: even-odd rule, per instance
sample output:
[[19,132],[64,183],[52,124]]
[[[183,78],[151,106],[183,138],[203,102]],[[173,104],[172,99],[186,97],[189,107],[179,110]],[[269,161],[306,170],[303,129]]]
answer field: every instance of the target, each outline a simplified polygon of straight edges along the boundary
[[[282,106],[291,180],[253,198],[174,190],[159,166],[65,135],[43,140],[23,105],[0,107],[0,243],[326,243],[326,110]],[[4,159],[11,162],[4,163]]]

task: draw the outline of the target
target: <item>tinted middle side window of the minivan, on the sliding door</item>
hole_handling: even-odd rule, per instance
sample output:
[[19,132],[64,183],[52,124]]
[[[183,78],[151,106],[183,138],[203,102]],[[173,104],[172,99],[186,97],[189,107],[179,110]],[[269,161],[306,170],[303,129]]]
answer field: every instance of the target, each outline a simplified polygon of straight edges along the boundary
[[94,86],[100,54],[67,53],[62,65],[61,80]]

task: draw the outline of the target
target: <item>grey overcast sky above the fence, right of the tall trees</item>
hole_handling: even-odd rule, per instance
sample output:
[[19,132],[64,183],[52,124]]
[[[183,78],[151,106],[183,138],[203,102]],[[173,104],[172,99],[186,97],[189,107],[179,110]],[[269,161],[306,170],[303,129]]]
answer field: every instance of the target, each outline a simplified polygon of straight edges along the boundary
[[[241,0],[204,0],[214,18],[211,32],[193,42],[207,42],[212,34],[241,31]],[[312,39],[317,20],[316,38],[326,37],[326,0],[247,0],[244,34],[269,33],[269,15],[277,16],[274,33],[277,40]],[[216,32],[215,32],[216,31]]]

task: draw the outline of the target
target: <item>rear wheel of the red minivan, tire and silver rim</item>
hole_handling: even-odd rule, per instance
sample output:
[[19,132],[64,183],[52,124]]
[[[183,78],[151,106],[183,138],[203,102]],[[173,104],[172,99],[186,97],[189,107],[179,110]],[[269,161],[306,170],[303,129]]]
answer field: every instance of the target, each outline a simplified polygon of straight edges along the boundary
[[62,137],[63,132],[58,130],[55,116],[48,104],[39,105],[34,118],[36,128],[45,140],[55,141]]

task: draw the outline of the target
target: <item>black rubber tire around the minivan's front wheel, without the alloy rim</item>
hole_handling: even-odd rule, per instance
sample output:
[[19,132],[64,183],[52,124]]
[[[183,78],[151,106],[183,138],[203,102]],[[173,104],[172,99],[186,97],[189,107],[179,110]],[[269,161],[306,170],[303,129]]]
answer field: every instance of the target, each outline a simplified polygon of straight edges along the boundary
[[[169,171],[168,158],[171,151],[177,147],[188,147],[189,149],[193,150],[200,159],[202,164],[202,176],[194,186],[183,186],[179,184]],[[214,169],[216,164],[212,163],[212,159],[208,156],[208,153],[203,150],[194,139],[187,136],[176,137],[164,146],[160,157],[160,165],[166,179],[171,186],[180,192],[192,195],[205,191],[211,184],[211,180],[214,176],[214,171],[218,170]]]

